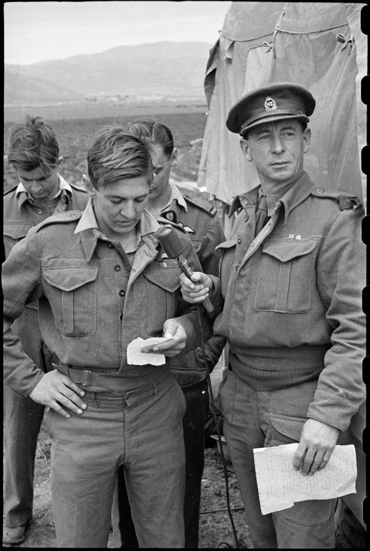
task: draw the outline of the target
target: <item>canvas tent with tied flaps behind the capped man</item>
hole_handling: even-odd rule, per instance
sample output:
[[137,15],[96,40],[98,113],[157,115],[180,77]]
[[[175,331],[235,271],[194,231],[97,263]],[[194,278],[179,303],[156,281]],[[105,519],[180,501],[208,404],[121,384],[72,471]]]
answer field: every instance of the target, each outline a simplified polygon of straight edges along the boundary
[[[360,97],[367,40],[365,4],[232,2],[210,51],[205,77],[208,116],[197,185],[230,204],[258,184],[253,164],[228,131],[227,113],[243,94],[270,82],[296,82],[317,101],[304,167],[314,182],[364,196],[360,170],[366,106]],[[226,228],[227,230],[227,228]]]

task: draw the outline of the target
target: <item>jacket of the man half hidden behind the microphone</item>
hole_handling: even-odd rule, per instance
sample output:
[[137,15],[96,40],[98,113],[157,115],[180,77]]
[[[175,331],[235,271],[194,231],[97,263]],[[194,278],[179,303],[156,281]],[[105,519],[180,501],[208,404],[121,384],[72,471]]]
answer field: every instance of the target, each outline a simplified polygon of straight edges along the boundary
[[[174,199],[160,215],[183,226],[197,253],[202,271],[218,276],[219,253],[216,251],[216,246],[224,241],[225,236],[217,211],[210,203],[199,197],[189,193],[183,193],[182,197],[186,209]],[[210,372],[217,364],[225,344],[226,338],[220,336],[213,336],[205,343],[207,367]],[[171,373],[181,388],[195,385],[207,376],[201,348],[191,350],[186,355],[178,354],[169,359],[169,364]]]

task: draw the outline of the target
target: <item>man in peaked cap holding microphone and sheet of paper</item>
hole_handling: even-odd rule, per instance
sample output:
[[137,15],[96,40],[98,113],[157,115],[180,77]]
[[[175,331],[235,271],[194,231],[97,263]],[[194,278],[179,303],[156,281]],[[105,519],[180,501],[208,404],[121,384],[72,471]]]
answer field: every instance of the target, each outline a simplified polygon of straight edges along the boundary
[[334,500],[262,515],[253,450],[298,442],[293,467],[314,477],[365,397],[364,212],[357,197],[303,170],[314,108],[302,86],[273,83],[230,109],[227,127],[260,186],[234,199],[219,279],[181,276],[187,301],[210,296],[213,330],[230,345],[224,435],[256,548],[334,547]]

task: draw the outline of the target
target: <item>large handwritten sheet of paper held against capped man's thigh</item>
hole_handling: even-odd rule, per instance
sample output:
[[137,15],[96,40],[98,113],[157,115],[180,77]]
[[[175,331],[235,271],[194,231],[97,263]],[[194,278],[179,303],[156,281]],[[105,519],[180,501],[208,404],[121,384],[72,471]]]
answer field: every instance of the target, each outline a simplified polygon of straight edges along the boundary
[[303,476],[293,467],[298,444],[256,448],[254,464],[262,515],[288,509],[294,501],[331,499],[356,493],[356,452],[353,444],[335,446],[324,469]]

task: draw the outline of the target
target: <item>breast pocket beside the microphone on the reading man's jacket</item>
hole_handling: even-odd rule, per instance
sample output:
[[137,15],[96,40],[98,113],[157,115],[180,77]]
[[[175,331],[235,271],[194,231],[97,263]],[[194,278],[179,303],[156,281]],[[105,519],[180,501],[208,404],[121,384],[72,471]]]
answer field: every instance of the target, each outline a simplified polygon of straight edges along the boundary
[[164,262],[152,262],[143,273],[148,293],[148,334],[160,337],[163,323],[175,315],[181,270],[176,260],[167,258]]

